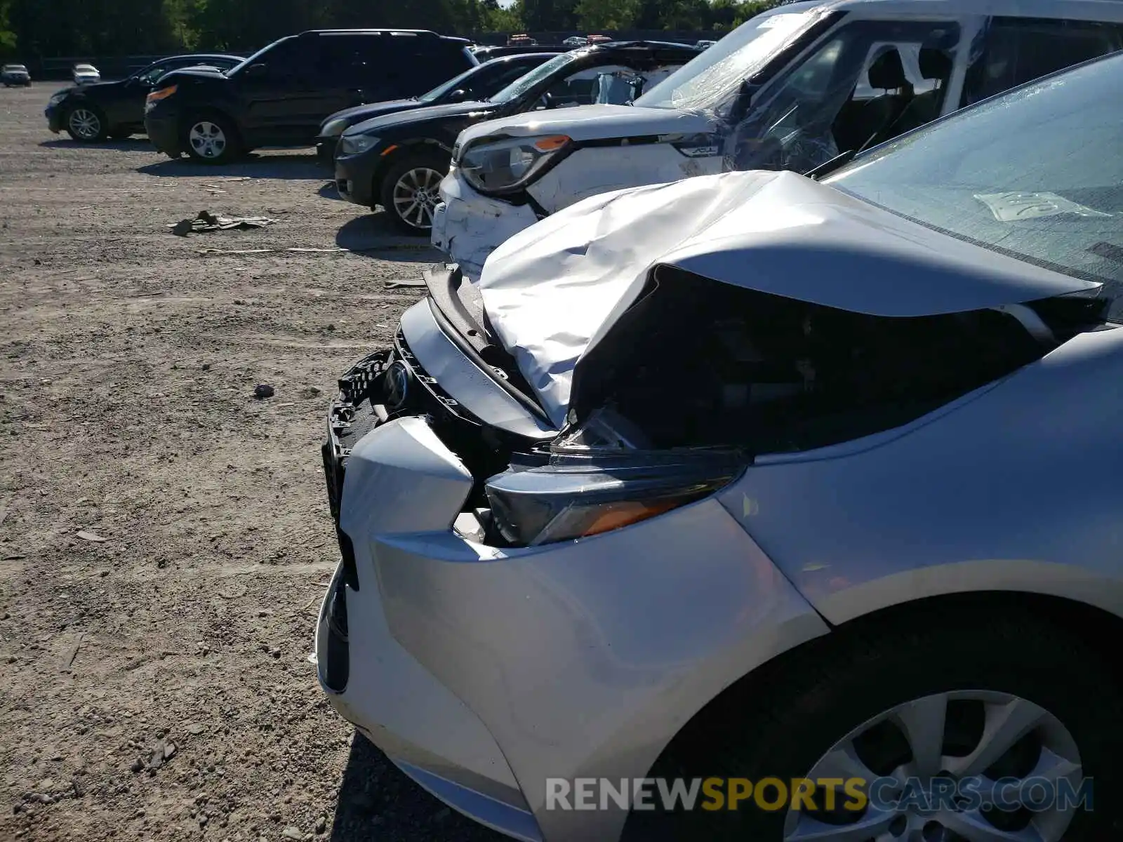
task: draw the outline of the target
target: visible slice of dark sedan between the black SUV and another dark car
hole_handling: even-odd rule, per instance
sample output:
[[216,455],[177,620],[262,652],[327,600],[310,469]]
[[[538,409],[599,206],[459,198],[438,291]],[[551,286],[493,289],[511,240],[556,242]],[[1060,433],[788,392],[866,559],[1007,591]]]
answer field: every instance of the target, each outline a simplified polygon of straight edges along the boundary
[[355,106],[337,111],[320,126],[316,138],[316,154],[320,161],[332,166],[336,158],[336,145],[339,136],[351,126],[371,120],[375,117],[412,111],[427,106],[444,106],[448,102],[465,102],[468,100],[485,100],[497,93],[514,80],[532,71],[539,64],[545,64],[558,53],[527,53],[493,58],[441,82],[420,97],[404,100],[374,102],[368,106]]

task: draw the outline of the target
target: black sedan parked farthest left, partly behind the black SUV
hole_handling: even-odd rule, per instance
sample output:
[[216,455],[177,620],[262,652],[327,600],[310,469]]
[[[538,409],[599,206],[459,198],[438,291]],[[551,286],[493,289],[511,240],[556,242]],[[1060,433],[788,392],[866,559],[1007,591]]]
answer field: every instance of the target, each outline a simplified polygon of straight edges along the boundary
[[162,58],[119,82],[94,82],[65,88],[47,103],[47,128],[66,131],[83,144],[107,137],[125,138],[144,131],[145,98],[157,80],[185,67],[228,71],[243,60],[234,55],[201,53]]

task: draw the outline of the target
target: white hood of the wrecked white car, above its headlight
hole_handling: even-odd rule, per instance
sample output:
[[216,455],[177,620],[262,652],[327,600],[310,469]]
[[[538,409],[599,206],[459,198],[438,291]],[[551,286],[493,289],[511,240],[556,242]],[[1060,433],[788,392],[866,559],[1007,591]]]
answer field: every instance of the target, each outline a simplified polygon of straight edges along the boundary
[[460,132],[458,143],[462,147],[467,146],[487,135],[567,135],[581,141],[642,135],[693,135],[712,130],[713,125],[707,117],[669,108],[576,106],[524,111],[471,126]]

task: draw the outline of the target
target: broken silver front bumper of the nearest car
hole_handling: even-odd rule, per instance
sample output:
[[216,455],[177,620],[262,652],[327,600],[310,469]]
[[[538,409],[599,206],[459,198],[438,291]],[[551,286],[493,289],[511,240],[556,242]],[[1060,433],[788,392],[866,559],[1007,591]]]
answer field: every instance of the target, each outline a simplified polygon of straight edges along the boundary
[[475,478],[429,417],[376,409],[389,361],[356,366],[329,417],[345,560],[317,628],[323,692],[471,817],[618,839],[623,811],[547,809],[547,779],[642,777],[721,687],[822,621],[715,498],[582,541],[481,543],[462,512]]

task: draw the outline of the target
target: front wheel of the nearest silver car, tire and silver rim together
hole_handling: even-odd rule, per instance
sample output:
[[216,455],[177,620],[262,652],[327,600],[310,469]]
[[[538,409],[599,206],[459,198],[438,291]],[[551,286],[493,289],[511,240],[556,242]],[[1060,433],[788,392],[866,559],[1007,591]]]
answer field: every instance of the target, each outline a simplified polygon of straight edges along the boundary
[[[1123,838],[1108,800],[1123,750],[1123,694],[1112,669],[1040,614],[961,606],[858,621],[734,686],[648,776],[720,778],[722,804],[715,809],[710,798],[702,808],[703,789],[694,809],[633,809],[623,839]],[[731,778],[751,784],[739,784],[748,796],[736,809]],[[840,778],[866,781],[866,802],[836,784],[831,805],[819,781]],[[791,809],[798,781],[809,781],[800,786],[810,802]],[[1074,806],[1084,786],[1090,800]]]

